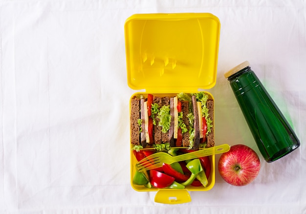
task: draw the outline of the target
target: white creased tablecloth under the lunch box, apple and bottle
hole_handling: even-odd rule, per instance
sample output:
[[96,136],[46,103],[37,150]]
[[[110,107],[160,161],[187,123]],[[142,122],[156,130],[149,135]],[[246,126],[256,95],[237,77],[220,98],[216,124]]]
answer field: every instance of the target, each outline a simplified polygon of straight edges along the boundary
[[[134,13],[209,12],[221,22],[216,143],[244,143],[248,186],[164,205],[130,185],[124,23]],[[301,147],[267,164],[223,74],[248,60]],[[0,212],[306,213],[305,0],[1,0]],[[216,156],[218,163],[219,156]]]

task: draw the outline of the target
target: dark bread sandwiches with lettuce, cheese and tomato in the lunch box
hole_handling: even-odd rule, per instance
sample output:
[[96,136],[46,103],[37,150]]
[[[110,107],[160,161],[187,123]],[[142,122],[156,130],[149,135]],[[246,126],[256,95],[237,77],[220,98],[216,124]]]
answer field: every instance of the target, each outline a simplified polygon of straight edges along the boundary
[[205,92],[131,97],[131,144],[139,148],[212,147],[214,100]]

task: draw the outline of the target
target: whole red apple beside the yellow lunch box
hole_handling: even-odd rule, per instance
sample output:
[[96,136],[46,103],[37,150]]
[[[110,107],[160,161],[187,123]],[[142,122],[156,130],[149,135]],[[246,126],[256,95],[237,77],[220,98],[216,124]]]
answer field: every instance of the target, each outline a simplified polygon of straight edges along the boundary
[[231,146],[220,156],[218,169],[221,177],[234,186],[251,183],[258,175],[261,162],[257,153],[242,144]]

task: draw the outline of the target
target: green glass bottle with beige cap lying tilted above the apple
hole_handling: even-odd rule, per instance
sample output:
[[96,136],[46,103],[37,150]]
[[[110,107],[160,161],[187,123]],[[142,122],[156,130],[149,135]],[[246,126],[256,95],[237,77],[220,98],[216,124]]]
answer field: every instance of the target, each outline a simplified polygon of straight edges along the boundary
[[245,61],[224,74],[266,162],[284,157],[300,141],[261,81]]

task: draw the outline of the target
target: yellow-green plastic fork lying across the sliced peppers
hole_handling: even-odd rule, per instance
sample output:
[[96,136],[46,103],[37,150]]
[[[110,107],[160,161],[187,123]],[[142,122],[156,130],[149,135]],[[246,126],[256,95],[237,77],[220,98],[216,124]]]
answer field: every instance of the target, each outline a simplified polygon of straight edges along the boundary
[[195,152],[190,152],[190,153],[177,155],[177,156],[171,156],[165,152],[157,152],[139,161],[136,164],[136,169],[141,172],[141,171],[161,167],[163,166],[163,163],[172,164],[178,161],[185,161],[189,159],[195,159],[195,158],[205,157],[205,156],[214,155],[214,154],[220,154],[220,153],[229,151],[229,149],[230,149],[229,144],[221,144],[221,145],[217,145],[214,147],[204,148],[204,149],[200,149]]

